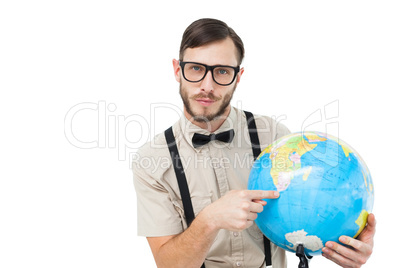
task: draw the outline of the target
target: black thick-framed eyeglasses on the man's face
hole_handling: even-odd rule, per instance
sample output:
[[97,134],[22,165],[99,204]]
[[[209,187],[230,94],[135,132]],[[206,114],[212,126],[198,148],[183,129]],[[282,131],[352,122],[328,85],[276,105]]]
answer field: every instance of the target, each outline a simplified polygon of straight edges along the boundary
[[214,65],[209,66],[206,64],[180,61],[180,67],[183,73],[184,79],[188,82],[197,83],[205,78],[208,71],[211,71],[212,79],[221,86],[228,86],[233,83],[237,73],[240,71],[240,67],[233,67],[228,65]]

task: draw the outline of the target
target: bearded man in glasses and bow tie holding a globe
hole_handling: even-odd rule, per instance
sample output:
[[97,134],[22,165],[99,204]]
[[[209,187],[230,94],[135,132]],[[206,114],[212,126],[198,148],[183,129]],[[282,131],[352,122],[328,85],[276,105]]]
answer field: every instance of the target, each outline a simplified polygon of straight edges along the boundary
[[[139,159],[153,158],[146,162],[159,166],[133,163],[138,233],[147,237],[158,267],[266,265],[267,245],[253,221],[266,205],[263,199],[279,193],[245,190],[254,142],[248,117],[230,105],[244,72],[239,68],[243,56],[241,39],[224,22],[201,19],[183,34],[180,59],[173,60],[184,104],[184,115],[172,127],[174,142],[159,134],[138,151]],[[290,133],[269,117],[254,119],[261,148]],[[226,138],[221,141],[219,135]],[[177,168],[172,144],[184,172]],[[177,179],[183,173],[195,215],[191,225]],[[323,255],[343,267],[360,267],[371,255],[374,233],[370,215],[359,239],[342,236],[348,247],[329,242]],[[272,266],[286,267],[285,251],[268,247]]]

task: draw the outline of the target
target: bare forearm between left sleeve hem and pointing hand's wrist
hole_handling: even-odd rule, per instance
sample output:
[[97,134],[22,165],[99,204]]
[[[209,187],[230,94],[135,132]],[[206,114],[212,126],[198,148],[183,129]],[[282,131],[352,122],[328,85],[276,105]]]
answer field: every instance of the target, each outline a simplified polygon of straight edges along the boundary
[[155,257],[158,267],[201,267],[219,229],[201,212],[183,233],[163,244]]

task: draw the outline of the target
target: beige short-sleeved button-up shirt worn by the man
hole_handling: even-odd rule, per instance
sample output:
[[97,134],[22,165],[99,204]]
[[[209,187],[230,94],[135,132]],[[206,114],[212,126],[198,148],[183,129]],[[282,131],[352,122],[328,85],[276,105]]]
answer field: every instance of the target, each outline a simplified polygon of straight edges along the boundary
[[[254,115],[261,149],[289,134],[270,117]],[[234,129],[231,143],[211,141],[194,148],[194,133],[209,135],[183,115],[173,133],[187,178],[195,216],[230,190],[247,189],[253,164],[247,121],[243,111],[232,107],[228,118],[215,131]],[[168,236],[186,228],[183,204],[171,156],[163,133],[142,146],[133,161],[137,193],[138,235]],[[271,244],[274,268],[286,267],[285,251]],[[254,224],[241,232],[220,230],[205,260],[206,267],[264,267],[263,234]]]

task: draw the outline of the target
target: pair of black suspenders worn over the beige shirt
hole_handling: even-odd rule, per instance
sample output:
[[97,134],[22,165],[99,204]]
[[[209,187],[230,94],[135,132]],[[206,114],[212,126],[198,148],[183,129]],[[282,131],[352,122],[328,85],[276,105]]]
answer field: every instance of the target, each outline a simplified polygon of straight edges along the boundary
[[[251,147],[253,149],[254,160],[261,153],[260,140],[258,139],[257,126],[255,124],[254,116],[250,112],[244,111],[247,118],[247,126],[251,140]],[[183,201],[184,215],[186,216],[187,225],[190,226],[194,220],[193,204],[191,202],[190,192],[188,190],[188,184],[186,175],[184,173],[183,164],[180,160],[179,151],[177,149],[176,140],[173,135],[172,127],[165,131],[166,142],[169,147],[170,156],[172,158],[174,172],[176,174],[177,183],[180,189],[181,199]],[[264,236],[264,249],[265,249],[265,264],[267,266],[272,265],[271,261],[271,246],[268,238]],[[205,264],[202,264],[201,268],[205,268]]]

